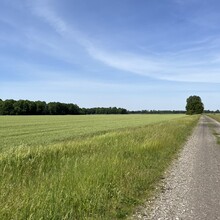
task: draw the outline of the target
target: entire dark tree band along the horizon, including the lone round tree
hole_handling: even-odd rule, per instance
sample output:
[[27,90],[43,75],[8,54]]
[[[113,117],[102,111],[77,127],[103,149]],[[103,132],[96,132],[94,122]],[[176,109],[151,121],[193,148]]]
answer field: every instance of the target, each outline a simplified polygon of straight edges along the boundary
[[186,111],[183,110],[138,110],[128,111],[125,108],[95,107],[80,108],[77,104],[0,99],[0,115],[91,115],[91,114],[201,114],[220,113],[219,110],[204,110],[199,96],[190,96],[187,100]]

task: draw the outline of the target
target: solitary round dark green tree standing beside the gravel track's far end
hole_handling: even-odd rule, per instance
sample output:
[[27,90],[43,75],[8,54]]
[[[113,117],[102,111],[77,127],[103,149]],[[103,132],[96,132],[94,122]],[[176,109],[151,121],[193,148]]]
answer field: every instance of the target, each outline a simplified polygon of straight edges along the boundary
[[190,96],[186,100],[186,114],[193,115],[193,114],[201,114],[204,111],[204,105],[202,100],[199,96]]

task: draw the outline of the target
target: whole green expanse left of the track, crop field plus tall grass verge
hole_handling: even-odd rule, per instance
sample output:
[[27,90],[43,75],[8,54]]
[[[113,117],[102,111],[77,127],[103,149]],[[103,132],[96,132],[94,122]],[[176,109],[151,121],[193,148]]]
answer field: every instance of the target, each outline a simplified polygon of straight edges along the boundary
[[0,117],[0,219],[120,219],[155,190],[199,116]]

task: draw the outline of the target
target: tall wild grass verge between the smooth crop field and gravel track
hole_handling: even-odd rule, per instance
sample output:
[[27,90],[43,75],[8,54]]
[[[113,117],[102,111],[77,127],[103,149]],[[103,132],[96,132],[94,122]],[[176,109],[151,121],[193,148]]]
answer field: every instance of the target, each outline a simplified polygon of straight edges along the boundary
[[0,219],[118,219],[154,190],[198,116],[0,156]]

